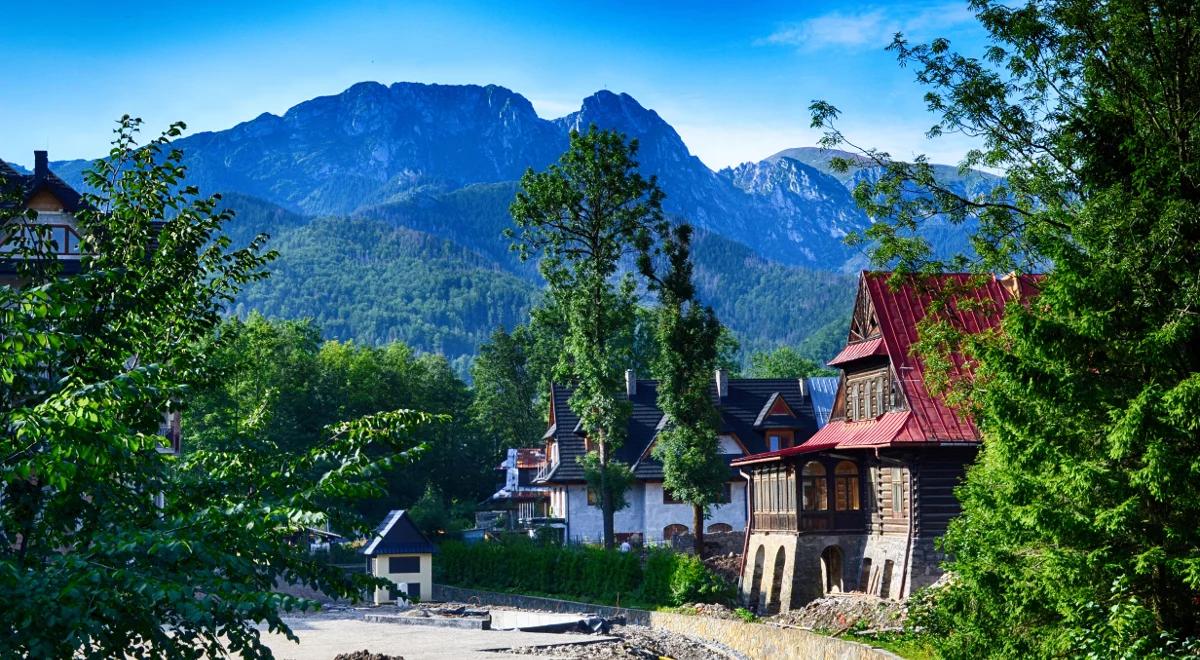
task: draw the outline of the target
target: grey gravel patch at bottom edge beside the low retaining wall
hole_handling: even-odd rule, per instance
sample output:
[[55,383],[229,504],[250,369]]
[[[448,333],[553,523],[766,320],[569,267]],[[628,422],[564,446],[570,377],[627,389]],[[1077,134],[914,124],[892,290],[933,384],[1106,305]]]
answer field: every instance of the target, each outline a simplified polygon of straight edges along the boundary
[[505,653],[515,655],[546,655],[566,659],[613,659],[613,660],[710,660],[713,658],[733,658],[718,649],[701,643],[685,635],[654,630],[636,625],[618,625],[608,632],[619,637],[613,642],[594,644],[554,646],[536,648],[515,648]]

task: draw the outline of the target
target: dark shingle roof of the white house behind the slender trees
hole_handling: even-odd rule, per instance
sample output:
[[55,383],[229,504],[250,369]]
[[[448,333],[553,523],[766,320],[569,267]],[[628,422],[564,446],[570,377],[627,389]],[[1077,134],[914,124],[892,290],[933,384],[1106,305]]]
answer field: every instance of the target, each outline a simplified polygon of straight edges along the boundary
[[[584,442],[577,433],[580,419],[568,406],[571,390],[563,385],[553,385],[551,392],[556,422],[553,436],[558,444],[559,462],[547,475],[546,481],[581,482],[583,468],[577,460],[584,454]],[[750,454],[766,451],[763,432],[769,428],[794,428],[797,443],[816,432],[812,403],[800,390],[800,382],[796,378],[734,378],[728,380],[728,394],[724,398],[718,400],[715,384],[710,389],[710,395],[721,414],[720,432],[737,436]],[[775,418],[780,415],[773,415],[767,418],[768,424],[756,427],[760,413],[773,397],[782,397],[796,418],[776,420]],[[624,443],[616,452],[618,461],[634,468],[637,479],[648,481],[662,479],[662,466],[650,454],[654,438],[662,428],[662,412],[658,408],[656,398],[656,380],[637,382],[637,390],[630,400],[632,410]],[[733,458],[736,456],[726,456],[727,461]]]

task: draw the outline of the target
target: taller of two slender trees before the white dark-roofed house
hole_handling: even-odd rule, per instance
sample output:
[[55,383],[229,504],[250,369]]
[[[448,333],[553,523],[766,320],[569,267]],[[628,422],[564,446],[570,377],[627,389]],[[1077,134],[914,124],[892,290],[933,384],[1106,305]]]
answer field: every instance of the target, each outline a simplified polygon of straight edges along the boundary
[[617,461],[629,416],[619,396],[632,328],[635,283],[618,268],[628,257],[649,254],[666,230],[662,191],[637,172],[637,140],[620,133],[571,132],[558,163],[521,178],[512,202],[516,230],[509,230],[521,258],[540,254],[540,271],[566,323],[556,376],[574,385],[576,410],[594,449],[583,457],[589,487],[600,496],[604,542],[613,546],[613,514],[631,482]]

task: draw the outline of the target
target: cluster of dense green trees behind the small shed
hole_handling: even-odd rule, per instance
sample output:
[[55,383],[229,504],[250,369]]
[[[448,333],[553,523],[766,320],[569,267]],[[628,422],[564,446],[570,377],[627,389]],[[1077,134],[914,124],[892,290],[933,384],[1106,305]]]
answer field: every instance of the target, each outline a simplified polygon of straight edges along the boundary
[[365,346],[322,335],[312,320],[258,313],[226,320],[208,348],[215,377],[198,388],[184,420],[188,446],[204,450],[253,433],[278,451],[302,454],[324,442],[330,425],[408,408],[450,419],[422,432],[425,452],[394,467],[386,496],[361,502],[359,512],[378,520],[427,490],[438,506],[470,509],[492,492],[498,449],[466,414],[472,392],[444,358],[402,342]]

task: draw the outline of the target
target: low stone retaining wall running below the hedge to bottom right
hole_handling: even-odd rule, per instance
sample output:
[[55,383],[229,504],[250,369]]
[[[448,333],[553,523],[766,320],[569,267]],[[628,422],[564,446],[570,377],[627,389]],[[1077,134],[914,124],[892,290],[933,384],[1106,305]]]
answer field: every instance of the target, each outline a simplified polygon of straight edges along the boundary
[[445,584],[433,586],[433,598],[434,600],[506,605],[547,612],[594,612],[606,618],[619,616],[625,617],[625,622],[631,625],[658,628],[708,640],[754,659],[899,660],[900,658],[866,644],[764,623],[745,623],[670,612],[647,612],[628,607],[605,607],[574,600],[481,592]]

